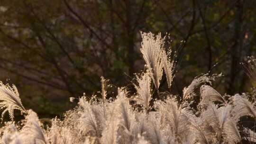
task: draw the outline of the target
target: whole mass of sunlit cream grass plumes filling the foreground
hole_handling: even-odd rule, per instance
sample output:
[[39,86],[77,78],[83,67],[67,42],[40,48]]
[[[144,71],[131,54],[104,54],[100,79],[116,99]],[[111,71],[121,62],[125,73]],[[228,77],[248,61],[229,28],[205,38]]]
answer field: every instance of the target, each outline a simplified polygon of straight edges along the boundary
[[[107,99],[109,80],[101,77],[101,98],[82,96],[78,106],[43,125],[33,110],[26,110],[17,88],[0,82],[2,117],[8,111],[12,121],[0,128],[2,144],[238,144],[256,142],[254,130],[241,127],[241,117],[256,117],[254,99],[247,94],[222,96],[211,83],[219,75],[196,77],[183,95],[163,97],[159,86],[165,72],[171,88],[176,61],[166,53],[165,37],[142,33],[141,52],[146,70],[136,74],[132,96],[118,88],[116,98]],[[174,52],[175,57],[175,52]],[[154,92],[157,91],[157,92]],[[164,91],[163,91],[164,92]],[[177,99],[177,98],[180,99]],[[200,97],[200,101],[194,99]],[[70,98],[74,101],[76,98]],[[195,107],[196,105],[196,107]],[[25,115],[13,121],[13,110]]]

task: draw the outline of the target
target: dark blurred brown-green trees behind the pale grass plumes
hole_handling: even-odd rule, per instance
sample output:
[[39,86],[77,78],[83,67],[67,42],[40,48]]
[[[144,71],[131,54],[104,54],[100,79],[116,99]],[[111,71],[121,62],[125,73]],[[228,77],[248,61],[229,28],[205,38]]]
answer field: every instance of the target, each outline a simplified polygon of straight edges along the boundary
[[172,93],[212,69],[221,94],[250,90],[242,66],[256,50],[255,0],[1,0],[0,79],[26,108],[54,117],[68,98],[127,86],[144,68],[139,31],[185,41]]

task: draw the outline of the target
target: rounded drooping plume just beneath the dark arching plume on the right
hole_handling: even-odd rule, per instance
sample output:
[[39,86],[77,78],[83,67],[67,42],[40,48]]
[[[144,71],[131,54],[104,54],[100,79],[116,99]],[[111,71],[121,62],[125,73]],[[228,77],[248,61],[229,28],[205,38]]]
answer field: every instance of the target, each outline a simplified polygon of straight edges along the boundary
[[200,88],[201,92],[201,101],[200,105],[202,107],[206,107],[210,102],[219,101],[222,103],[226,103],[225,99],[219,94],[218,91],[214,90],[209,85],[202,85]]

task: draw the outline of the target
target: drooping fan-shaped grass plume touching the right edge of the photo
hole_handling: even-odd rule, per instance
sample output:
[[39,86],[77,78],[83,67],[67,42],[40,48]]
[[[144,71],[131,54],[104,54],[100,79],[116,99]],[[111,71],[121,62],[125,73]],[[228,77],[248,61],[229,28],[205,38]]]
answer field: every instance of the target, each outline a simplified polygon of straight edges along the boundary
[[235,121],[238,122],[240,117],[243,116],[251,116],[256,118],[256,109],[255,109],[255,103],[249,102],[248,99],[243,98],[240,95],[233,96],[233,102],[234,102],[234,115],[235,115]]

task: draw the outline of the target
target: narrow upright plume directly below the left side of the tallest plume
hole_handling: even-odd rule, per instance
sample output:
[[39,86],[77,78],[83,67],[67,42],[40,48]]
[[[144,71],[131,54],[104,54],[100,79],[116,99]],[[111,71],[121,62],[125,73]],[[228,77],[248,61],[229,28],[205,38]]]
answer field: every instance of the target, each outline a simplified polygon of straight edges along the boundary
[[146,110],[146,113],[149,112],[149,104],[152,99],[151,95],[151,78],[149,73],[145,72],[142,75],[136,75],[138,84],[134,84],[135,89],[137,90],[136,101],[138,104],[142,104]]

